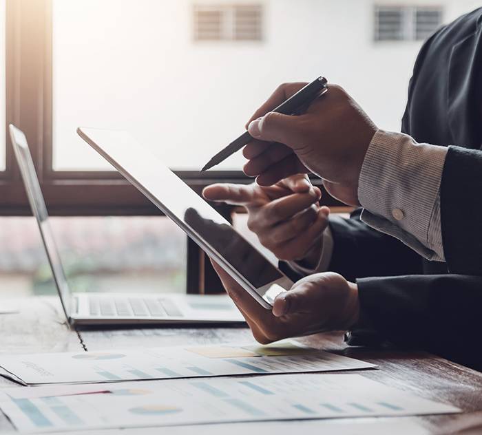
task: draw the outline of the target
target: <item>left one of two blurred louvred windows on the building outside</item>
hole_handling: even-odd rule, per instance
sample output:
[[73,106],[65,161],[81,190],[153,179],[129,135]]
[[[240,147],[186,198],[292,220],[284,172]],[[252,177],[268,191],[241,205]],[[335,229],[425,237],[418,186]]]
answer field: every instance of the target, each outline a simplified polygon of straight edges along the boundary
[[194,6],[196,41],[260,41],[262,6]]

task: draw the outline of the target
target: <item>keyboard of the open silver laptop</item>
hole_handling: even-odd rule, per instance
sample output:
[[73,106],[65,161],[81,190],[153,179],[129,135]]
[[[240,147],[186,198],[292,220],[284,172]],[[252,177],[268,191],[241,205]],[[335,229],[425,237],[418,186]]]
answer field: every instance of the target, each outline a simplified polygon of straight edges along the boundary
[[182,317],[182,312],[170,299],[140,297],[89,297],[92,316],[106,317]]

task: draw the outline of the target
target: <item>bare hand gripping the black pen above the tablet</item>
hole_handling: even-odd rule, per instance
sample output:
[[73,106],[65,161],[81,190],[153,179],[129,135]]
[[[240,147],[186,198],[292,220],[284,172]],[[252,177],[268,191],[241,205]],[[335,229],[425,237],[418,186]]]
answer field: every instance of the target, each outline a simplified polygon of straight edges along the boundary
[[251,117],[248,131],[255,140],[244,147],[247,176],[269,186],[295,173],[313,172],[331,195],[358,205],[358,178],[377,127],[337,85],[302,115],[270,112],[306,83],[285,84]]

